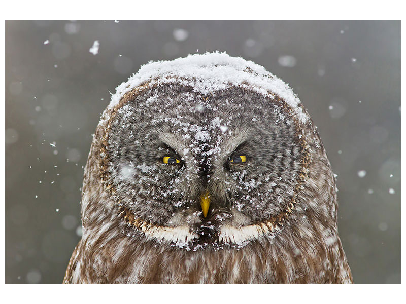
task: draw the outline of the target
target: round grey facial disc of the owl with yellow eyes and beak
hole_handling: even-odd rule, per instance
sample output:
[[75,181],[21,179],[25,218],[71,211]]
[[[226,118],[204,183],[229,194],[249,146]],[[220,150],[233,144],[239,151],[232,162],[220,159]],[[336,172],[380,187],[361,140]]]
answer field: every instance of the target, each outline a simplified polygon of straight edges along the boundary
[[123,219],[151,239],[195,249],[276,233],[306,158],[297,119],[283,105],[239,87],[128,92],[101,151],[104,184]]

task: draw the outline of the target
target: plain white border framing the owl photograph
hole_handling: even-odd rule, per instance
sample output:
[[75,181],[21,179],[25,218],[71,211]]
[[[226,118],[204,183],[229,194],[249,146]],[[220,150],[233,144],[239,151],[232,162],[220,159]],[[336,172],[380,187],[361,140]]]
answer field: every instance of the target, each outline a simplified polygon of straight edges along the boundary
[[[125,4],[127,3],[127,4]],[[114,2],[85,2],[71,0],[68,2],[55,1],[7,1],[2,4],[3,20],[31,20],[31,19],[54,19],[54,20],[100,20],[100,19],[140,19],[140,20],[276,20],[299,19],[299,20],[401,20],[402,9],[399,1],[385,1],[384,3],[366,1],[154,1],[148,2],[114,1]],[[1,25],[1,35],[4,42],[5,23]],[[405,32],[404,23],[401,24],[402,38]],[[404,39],[402,39],[402,54],[404,53]],[[2,47],[3,58],[5,47]],[[3,71],[5,71],[4,60],[2,60]],[[401,71],[404,71],[404,64],[401,64]],[[4,72],[2,73],[4,93]],[[401,80],[402,88],[404,77]],[[4,103],[3,103],[4,104]],[[2,107],[2,118],[4,119],[4,106]],[[401,128],[404,131],[404,122],[401,121]],[[3,175],[5,176],[5,146],[4,131],[5,124],[2,124],[3,132],[1,149],[3,156]],[[404,139],[402,134],[402,139]],[[402,159],[404,157],[404,140],[402,140]],[[404,169],[403,164],[401,165]],[[404,172],[404,170],[402,170]],[[405,176],[402,174],[402,189],[404,189]],[[3,199],[5,183],[2,182]],[[5,206],[3,204],[3,206]],[[402,208],[401,214],[405,214]],[[2,219],[4,219],[4,208],[2,208]],[[2,227],[4,227],[4,223]],[[402,226],[404,236],[404,226]],[[404,239],[404,237],[403,237]],[[4,233],[2,234],[1,255],[4,259]],[[402,257],[405,248],[402,242]],[[402,263],[402,278],[404,278],[404,262]],[[374,265],[370,265],[373,267]],[[2,281],[5,280],[4,262],[1,266]],[[369,284],[369,285],[91,285],[91,286],[67,286],[67,285],[22,285],[8,284],[2,289],[2,298],[13,303],[20,302],[58,302],[79,303],[86,302],[279,302],[279,303],[382,303],[398,301],[404,298],[401,284]],[[402,296],[403,294],[403,296]]]

